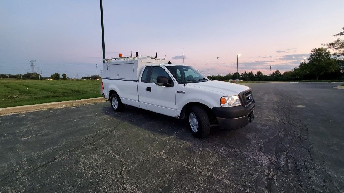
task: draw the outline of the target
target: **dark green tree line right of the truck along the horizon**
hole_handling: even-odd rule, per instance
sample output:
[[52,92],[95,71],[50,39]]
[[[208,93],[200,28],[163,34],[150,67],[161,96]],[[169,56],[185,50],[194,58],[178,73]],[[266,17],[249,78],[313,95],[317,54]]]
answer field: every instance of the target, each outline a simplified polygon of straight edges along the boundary
[[[333,36],[343,36],[343,31]],[[213,80],[241,79],[245,81],[299,81],[299,80],[343,80],[344,79],[344,40],[337,38],[334,42],[323,44],[326,47],[314,48],[307,61],[299,67],[283,74],[275,70],[271,75],[264,75],[258,71],[243,73],[228,73],[226,76],[208,76]],[[329,49],[335,52],[330,53]]]

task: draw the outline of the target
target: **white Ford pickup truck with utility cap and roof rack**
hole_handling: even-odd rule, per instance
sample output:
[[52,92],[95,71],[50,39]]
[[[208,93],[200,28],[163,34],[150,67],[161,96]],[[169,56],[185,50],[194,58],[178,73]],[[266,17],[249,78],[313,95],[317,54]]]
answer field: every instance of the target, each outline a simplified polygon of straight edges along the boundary
[[114,111],[124,105],[187,118],[192,133],[205,137],[210,127],[237,129],[254,119],[249,87],[210,80],[191,66],[150,56],[104,59],[102,94]]

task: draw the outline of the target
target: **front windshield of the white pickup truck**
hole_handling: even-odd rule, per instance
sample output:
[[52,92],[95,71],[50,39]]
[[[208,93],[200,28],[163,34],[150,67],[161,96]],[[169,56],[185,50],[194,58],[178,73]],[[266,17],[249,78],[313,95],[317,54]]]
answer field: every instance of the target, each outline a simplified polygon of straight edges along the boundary
[[191,66],[166,66],[178,83],[204,82],[209,79]]

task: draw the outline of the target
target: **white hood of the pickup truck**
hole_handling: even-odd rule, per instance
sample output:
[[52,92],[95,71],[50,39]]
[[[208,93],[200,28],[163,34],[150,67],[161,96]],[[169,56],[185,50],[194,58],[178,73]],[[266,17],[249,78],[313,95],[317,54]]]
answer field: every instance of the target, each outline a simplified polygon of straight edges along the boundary
[[[227,96],[238,95],[240,92],[243,92],[249,87],[246,87],[241,84],[224,82],[224,81],[205,81],[205,82],[195,82],[195,83],[187,83],[188,86],[203,88],[207,90],[212,90],[216,92],[224,93]],[[224,95],[224,96],[225,96]]]

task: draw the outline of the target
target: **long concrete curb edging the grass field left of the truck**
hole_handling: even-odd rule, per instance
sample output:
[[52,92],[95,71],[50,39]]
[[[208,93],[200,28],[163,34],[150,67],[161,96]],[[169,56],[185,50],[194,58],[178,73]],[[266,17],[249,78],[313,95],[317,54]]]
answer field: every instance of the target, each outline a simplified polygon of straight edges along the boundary
[[63,108],[66,106],[77,106],[80,104],[98,103],[98,102],[105,102],[105,101],[106,101],[105,98],[99,97],[99,98],[92,98],[92,99],[81,99],[81,100],[76,100],[76,101],[61,101],[61,102],[53,102],[53,103],[4,107],[4,108],[0,108],[0,116],[7,115],[7,114],[32,112],[32,111],[42,111],[46,109],[57,109],[57,108]]

